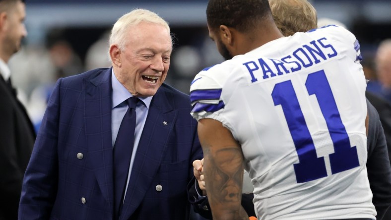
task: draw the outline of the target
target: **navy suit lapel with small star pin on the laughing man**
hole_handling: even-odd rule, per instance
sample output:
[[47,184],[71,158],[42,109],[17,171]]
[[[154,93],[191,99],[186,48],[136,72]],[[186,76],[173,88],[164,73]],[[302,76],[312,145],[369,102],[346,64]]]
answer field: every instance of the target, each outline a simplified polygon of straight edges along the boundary
[[[160,88],[153,96],[138,144],[122,209],[122,220],[130,219],[146,191],[154,187],[151,183],[165,154],[176,118],[177,111],[169,103],[164,89]],[[167,125],[163,122],[167,122]]]

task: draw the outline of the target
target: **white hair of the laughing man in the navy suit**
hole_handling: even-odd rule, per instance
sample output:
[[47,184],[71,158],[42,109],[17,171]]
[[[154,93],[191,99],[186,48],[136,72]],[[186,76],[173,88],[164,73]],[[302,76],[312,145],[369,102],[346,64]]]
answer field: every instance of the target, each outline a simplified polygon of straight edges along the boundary
[[134,9],[120,17],[114,24],[110,34],[109,45],[116,44],[121,50],[124,50],[127,44],[126,36],[128,29],[136,26],[140,22],[161,24],[170,33],[168,23],[159,15],[146,9]]

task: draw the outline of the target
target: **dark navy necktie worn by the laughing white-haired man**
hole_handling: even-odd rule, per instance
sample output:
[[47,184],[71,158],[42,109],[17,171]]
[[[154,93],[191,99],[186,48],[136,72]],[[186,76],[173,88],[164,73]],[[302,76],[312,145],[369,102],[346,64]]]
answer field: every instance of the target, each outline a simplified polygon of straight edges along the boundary
[[118,219],[124,201],[124,192],[129,173],[131,153],[134,144],[134,129],[136,126],[136,105],[139,99],[130,97],[126,100],[129,109],[122,119],[117,139],[113,149],[114,164],[114,215]]

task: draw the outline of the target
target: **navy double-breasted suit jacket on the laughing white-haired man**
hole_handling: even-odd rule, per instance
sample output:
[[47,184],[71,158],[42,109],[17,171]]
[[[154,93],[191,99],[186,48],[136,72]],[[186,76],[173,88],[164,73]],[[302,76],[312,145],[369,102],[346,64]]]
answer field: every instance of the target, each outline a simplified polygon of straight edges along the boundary
[[[111,109],[111,69],[58,80],[24,176],[20,220],[113,218]],[[189,219],[186,185],[202,158],[190,111],[189,96],[166,84],[153,96],[121,220]]]

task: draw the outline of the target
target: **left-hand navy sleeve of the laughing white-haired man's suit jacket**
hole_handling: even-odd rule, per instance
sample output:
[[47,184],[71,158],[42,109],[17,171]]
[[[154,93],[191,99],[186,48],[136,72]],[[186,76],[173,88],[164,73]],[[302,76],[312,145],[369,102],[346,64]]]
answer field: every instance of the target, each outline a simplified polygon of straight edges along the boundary
[[60,86],[49,99],[23,180],[19,220],[49,219],[57,195]]

